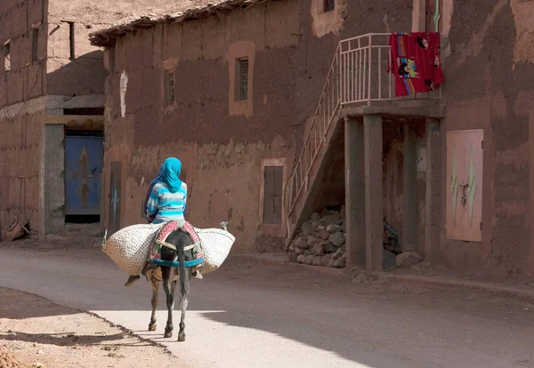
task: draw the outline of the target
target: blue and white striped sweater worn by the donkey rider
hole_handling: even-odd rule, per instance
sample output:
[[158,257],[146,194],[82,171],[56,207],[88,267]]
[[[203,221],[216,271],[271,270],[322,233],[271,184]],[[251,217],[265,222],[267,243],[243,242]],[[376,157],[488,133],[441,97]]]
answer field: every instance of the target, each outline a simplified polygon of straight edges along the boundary
[[170,220],[185,220],[183,212],[187,200],[187,185],[182,182],[182,187],[176,193],[171,193],[163,182],[158,182],[152,188],[147,203],[147,217],[156,215],[152,222],[160,224]]

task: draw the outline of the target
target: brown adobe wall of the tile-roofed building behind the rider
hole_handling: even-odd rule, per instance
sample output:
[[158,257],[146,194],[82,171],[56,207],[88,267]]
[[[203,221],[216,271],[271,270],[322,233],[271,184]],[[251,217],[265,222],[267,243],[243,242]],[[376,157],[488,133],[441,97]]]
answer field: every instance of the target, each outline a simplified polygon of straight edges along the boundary
[[[121,37],[105,58],[105,163],[123,163],[122,225],[142,221],[148,182],[166,156],[178,156],[190,190],[188,220],[198,227],[230,220],[236,252],[279,250],[285,227],[267,228],[259,215],[261,163],[285,159],[291,171],[340,39],[384,31],[384,15],[392,27],[409,29],[411,7],[387,3],[340,3],[325,20],[312,16],[310,2],[273,1]],[[238,106],[229,96],[240,53],[254,59],[254,71],[253,97]],[[164,69],[174,70],[171,107]],[[109,172],[105,183],[109,193]]]

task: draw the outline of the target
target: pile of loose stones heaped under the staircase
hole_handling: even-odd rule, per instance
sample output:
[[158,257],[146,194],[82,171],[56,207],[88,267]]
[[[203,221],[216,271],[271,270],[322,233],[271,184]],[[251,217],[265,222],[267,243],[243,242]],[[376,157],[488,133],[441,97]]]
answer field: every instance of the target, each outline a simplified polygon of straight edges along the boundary
[[344,207],[339,211],[325,209],[321,213],[314,212],[289,244],[287,254],[292,262],[344,268]]

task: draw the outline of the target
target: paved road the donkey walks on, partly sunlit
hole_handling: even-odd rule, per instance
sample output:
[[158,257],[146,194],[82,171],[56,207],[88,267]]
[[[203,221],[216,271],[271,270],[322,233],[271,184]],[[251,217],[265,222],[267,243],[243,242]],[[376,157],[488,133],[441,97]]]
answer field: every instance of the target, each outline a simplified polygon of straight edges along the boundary
[[146,331],[150,286],[125,288],[125,278],[91,250],[0,249],[0,286],[93,311],[165,344],[183,366],[534,367],[534,306],[487,294],[350,284],[229,259],[193,280],[179,343],[162,338],[163,300],[158,331]]

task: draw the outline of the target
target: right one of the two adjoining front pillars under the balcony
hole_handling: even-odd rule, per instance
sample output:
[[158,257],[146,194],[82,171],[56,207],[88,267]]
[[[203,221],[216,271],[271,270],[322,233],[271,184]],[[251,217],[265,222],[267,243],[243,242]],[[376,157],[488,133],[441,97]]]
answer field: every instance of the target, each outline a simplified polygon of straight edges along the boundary
[[383,269],[382,117],[363,116],[367,270]]

